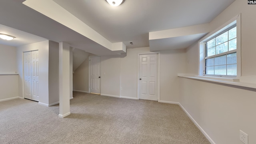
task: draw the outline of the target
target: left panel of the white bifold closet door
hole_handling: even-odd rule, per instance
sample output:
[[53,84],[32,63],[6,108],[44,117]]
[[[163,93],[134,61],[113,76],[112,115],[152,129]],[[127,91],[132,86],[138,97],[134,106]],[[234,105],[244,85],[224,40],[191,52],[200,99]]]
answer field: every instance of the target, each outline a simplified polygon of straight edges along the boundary
[[24,52],[24,98],[32,100],[31,92],[31,52]]

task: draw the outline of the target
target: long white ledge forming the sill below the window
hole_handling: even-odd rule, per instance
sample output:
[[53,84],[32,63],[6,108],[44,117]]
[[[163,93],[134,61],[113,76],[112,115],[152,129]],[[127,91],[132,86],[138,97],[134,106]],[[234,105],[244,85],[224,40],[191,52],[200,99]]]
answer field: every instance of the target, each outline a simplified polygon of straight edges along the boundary
[[[222,84],[230,84],[234,86],[242,86],[247,88],[255,88],[256,89],[256,81],[247,82],[246,79],[248,78],[223,78],[223,77],[214,77],[214,76],[198,76],[196,74],[178,74],[178,77],[182,78],[190,78],[195,80],[203,80],[208,82],[217,82]],[[252,79],[256,79],[256,77],[251,77]]]

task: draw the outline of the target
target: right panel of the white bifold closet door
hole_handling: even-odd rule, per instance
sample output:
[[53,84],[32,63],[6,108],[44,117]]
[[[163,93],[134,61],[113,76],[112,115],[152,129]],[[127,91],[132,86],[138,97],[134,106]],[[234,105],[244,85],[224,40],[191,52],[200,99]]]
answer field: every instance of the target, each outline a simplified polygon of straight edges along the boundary
[[32,100],[39,101],[38,81],[38,50],[31,52],[32,64]]

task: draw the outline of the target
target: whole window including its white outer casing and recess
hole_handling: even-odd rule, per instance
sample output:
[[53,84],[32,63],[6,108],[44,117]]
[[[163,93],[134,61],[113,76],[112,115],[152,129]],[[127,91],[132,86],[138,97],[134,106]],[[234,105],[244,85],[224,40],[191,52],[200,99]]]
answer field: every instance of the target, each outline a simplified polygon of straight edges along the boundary
[[198,74],[239,78],[241,72],[241,14],[238,14],[200,39]]

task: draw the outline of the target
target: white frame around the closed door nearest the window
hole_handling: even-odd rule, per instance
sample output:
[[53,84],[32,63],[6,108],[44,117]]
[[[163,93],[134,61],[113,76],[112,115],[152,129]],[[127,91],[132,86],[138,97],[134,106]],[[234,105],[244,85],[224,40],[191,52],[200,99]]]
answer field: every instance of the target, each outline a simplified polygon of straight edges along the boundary
[[140,99],[140,55],[145,55],[145,54],[158,54],[158,76],[157,76],[157,83],[158,83],[158,102],[160,102],[160,52],[139,52],[138,53],[138,68],[137,68],[137,100]]

